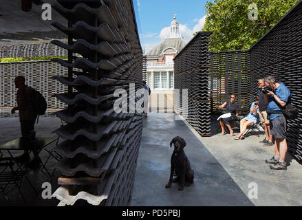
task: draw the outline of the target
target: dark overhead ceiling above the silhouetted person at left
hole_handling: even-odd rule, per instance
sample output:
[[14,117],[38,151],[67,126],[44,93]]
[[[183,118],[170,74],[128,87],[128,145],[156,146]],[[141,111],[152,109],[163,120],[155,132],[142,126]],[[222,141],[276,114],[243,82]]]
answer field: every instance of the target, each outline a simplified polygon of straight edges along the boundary
[[50,43],[53,39],[66,41],[67,36],[51,25],[54,21],[67,25],[66,19],[52,9],[52,21],[43,21],[42,12],[42,5],[33,4],[30,12],[23,12],[21,0],[1,0],[0,47]]

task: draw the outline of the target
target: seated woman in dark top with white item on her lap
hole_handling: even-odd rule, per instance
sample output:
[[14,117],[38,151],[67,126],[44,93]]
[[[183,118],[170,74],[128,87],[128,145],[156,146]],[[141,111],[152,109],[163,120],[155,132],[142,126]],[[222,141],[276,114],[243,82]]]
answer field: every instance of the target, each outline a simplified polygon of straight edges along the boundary
[[218,106],[218,109],[223,108],[226,108],[226,113],[217,119],[222,127],[222,135],[226,134],[226,131],[224,130],[225,124],[228,127],[228,131],[230,131],[230,136],[233,136],[234,131],[230,126],[230,122],[236,122],[239,112],[239,104],[236,103],[236,96],[234,94],[230,96],[230,101],[226,101],[224,104]]

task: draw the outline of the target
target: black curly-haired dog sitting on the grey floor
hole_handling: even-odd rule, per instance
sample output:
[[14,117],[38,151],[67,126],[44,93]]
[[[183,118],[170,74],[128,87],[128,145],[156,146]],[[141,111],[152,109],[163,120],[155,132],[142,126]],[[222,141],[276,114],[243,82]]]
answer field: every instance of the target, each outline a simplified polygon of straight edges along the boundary
[[[171,173],[166,188],[171,187],[172,181],[178,181],[180,183],[178,190],[183,190],[184,186],[193,184],[194,170],[192,170],[190,162],[184,153],[184,146],[186,146],[184,139],[178,136],[174,137],[171,140],[170,147],[172,144],[174,144],[174,151],[171,155]],[[176,176],[174,179],[172,179],[173,175]]]

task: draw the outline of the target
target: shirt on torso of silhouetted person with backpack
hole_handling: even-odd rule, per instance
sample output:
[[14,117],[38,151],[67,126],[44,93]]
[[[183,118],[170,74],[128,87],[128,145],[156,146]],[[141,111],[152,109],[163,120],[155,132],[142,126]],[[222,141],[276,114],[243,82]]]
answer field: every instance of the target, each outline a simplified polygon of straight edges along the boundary
[[34,120],[34,94],[32,88],[25,85],[17,91],[17,104],[19,107],[20,120]]

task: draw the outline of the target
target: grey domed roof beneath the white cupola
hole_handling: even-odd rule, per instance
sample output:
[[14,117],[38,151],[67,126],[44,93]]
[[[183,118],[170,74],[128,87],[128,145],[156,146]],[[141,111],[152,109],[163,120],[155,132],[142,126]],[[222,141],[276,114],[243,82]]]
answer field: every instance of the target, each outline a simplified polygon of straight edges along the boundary
[[160,54],[162,54],[162,52],[164,52],[164,50],[166,50],[167,48],[171,48],[171,47],[174,48],[178,53],[185,46],[186,46],[186,43],[180,38],[178,38],[178,39],[165,39],[164,41],[162,41],[162,43],[160,43],[159,45],[154,47],[147,54],[147,56],[159,56]]

